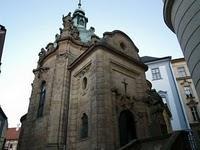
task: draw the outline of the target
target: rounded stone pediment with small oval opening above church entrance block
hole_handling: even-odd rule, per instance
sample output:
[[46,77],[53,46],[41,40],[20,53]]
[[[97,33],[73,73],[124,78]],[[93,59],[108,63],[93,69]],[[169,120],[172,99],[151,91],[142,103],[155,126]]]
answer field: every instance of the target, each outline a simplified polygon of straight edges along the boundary
[[128,35],[119,30],[114,30],[112,32],[105,32],[103,34],[102,41],[109,46],[115,48],[116,50],[129,55],[130,57],[139,60],[138,48],[135,46],[133,41]]

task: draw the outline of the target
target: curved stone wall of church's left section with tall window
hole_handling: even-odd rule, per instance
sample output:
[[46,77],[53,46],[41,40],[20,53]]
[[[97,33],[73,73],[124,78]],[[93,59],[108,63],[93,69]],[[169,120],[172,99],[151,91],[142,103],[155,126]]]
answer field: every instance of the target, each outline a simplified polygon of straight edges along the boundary
[[[70,73],[67,69],[81,51],[69,41],[59,42],[58,49],[39,59],[33,70],[35,79],[25,122],[20,150],[54,150],[66,145],[68,93]],[[75,49],[75,50],[74,50]],[[72,51],[73,50],[73,51]],[[42,117],[37,117],[41,83],[46,82],[46,96]]]

